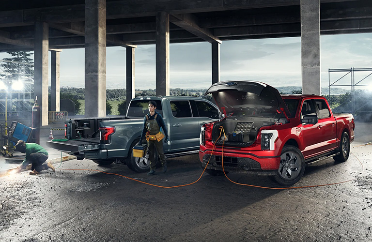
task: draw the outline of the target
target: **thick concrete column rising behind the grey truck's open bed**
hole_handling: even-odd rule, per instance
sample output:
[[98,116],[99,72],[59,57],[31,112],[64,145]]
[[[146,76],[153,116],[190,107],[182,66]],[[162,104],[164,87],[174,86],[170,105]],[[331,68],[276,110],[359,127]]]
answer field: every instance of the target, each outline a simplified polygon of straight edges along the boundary
[[85,117],[106,117],[106,0],[85,0]]

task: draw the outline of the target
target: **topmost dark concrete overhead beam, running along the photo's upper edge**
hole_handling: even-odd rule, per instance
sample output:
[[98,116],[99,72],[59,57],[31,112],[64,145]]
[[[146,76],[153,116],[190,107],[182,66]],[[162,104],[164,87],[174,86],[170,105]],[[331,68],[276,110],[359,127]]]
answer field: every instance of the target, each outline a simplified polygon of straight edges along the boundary
[[[320,0],[321,3],[345,0]],[[348,0],[349,2],[359,0]],[[107,19],[155,16],[156,12],[188,14],[211,11],[253,9],[299,5],[300,0],[120,0],[107,2]],[[49,24],[84,21],[84,4],[0,12],[0,28],[32,25],[35,21]]]

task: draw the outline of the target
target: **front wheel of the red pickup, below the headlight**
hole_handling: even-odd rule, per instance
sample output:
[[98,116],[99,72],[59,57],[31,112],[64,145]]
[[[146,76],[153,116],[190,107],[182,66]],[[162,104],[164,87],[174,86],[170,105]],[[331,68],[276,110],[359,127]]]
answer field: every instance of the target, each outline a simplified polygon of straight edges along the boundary
[[274,180],[283,186],[292,186],[304,175],[304,156],[297,147],[284,146],[280,154],[279,169]]

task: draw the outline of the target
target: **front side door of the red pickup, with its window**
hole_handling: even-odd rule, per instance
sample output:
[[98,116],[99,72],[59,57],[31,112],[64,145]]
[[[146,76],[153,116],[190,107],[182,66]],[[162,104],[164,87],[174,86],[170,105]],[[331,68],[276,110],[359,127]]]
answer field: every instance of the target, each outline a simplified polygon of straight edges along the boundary
[[[300,115],[301,119],[306,115],[317,115],[314,102],[311,99],[305,100],[302,103]],[[321,137],[323,131],[319,126],[321,126],[319,123],[304,124],[302,126],[303,142],[305,145],[302,153],[305,157],[316,155],[324,150],[323,138]]]

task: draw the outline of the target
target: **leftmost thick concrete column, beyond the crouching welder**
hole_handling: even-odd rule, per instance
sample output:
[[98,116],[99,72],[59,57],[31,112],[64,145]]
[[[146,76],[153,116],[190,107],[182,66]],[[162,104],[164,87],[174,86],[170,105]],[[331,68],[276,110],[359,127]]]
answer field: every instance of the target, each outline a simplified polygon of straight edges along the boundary
[[[34,98],[40,106],[40,125],[48,125],[48,49],[49,25],[35,23],[34,47]],[[39,128],[39,127],[37,127]]]

